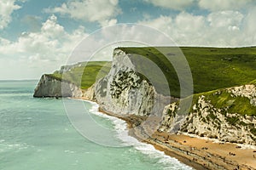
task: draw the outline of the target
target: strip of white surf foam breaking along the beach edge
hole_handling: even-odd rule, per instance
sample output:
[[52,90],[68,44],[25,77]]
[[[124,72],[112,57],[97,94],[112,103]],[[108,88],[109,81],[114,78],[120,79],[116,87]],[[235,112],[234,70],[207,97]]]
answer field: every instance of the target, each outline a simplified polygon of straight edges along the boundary
[[125,145],[132,145],[136,150],[139,150],[145,155],[148,155],[150,158],[157,159],[159,163],[163,164],[165,166],[164,169],[193,169],[192,167],[189,167],[187,165],[184,165],[180,161],[178,161],[176,158],[173,158],[171,156],[166,156],[166,154],[163,151],[156,150],[153,145],[151,144],[145,144],[142,142],[139,142],[137,139],[129,136],[127,124],[125,121],[114,117],[114,116],[108,116],[106,114],[102,114],[98,111],[99,105],[97,105],[95,102],[86,101],[89,102],[92,107],[90,109],[90,113],[102,116],[104,118],[107,118],[108,120],[111,120],[114,125],[114,130],[117,132],[116,137],[120,139]]

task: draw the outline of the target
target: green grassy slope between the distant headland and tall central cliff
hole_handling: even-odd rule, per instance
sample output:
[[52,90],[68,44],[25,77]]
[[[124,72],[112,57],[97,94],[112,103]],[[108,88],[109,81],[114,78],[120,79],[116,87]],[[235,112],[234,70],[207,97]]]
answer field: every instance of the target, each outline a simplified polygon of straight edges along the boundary
[[96,82],[96,79],[108,74],[110,64],[111,62],[108,61],[90,61],[87,62],[86,65],[76,66],[62,74],[60,71],[55,71],[55,73],[49,76],[59,80],[73,82],[79,88],[86,89],[90,88],[90,86]]

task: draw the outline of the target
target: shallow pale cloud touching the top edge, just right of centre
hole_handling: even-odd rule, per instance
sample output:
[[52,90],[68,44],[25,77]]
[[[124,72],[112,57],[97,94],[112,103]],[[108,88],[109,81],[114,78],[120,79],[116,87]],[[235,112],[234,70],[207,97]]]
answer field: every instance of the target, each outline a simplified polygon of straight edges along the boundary
[[193,4],[195,0],[144,0],[147,3],[152,3],[156,7],[172,8],[177,10],[183,10],[189,5]]

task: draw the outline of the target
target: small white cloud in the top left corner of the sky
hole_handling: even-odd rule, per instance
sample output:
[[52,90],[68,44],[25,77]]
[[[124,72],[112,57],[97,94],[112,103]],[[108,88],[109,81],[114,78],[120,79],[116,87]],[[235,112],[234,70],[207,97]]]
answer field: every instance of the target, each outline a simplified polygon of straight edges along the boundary
[[1,0],[0,1],[0,30],[3,30],[12,20],[11,14],[21,8],[15,4],[17,0]]

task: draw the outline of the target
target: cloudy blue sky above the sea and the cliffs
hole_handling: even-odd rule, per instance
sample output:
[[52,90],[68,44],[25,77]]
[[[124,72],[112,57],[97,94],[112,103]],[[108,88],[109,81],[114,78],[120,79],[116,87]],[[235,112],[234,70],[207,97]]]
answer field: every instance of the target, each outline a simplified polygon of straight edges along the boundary
[[177,46],[256,45],[255,0],[1,0],[0,80],[58,70],[84,38],[125,23],[150,26]]

